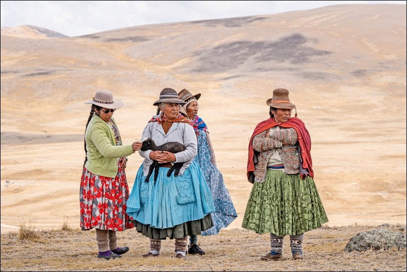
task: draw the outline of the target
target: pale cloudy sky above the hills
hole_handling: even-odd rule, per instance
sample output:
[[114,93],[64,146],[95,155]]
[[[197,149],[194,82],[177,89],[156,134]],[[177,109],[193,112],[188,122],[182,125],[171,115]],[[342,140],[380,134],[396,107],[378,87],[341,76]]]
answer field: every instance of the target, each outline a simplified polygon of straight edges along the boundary
[[406,1],[1,1],[1,27],[35,25],[82,36],[136,25],[276,14]]

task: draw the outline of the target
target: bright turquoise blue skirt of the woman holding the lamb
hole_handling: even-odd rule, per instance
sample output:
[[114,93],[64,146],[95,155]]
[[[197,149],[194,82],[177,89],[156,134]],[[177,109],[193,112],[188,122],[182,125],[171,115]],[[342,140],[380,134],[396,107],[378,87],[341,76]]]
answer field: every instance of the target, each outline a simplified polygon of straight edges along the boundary
[[202,171],[192,161],[183,175],[167,177],[169,168],[160,167],[157,181],[154,172],[149,182],[138,169],[127,201],[127,214],[151,228],[166,229],[200,220],[215,211],[211,191]]

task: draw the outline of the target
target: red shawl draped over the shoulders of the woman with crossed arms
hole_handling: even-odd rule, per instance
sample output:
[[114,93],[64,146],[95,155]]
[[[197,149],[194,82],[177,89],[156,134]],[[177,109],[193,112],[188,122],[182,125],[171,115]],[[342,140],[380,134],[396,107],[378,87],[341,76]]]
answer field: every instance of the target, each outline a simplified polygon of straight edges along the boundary
[[[274,119],[269,118],[263,122],[258,123],[256,128],[254,128],[253,134],[249,142],[249,158],[247,160],[247,179],[250,181],[249,177],[251,172],[254,171],[254,149],[252,146],[252,140],[255,135],[260,132],[263,132],[267,129],[270,129],[275,126],[281,126],[286,128],[294,128],[298,134],[298,142],[301,147],[301,157],[302,157],[302,167],[308,170],[311,178],[314,177],[314,172],[312,171],[312,159],[311,159],[311,137],[305,124],[301,121],[300,118],[292,117],[287,122],[277,123]],[[305,179],[306,174],[300,174],[300,176]],[[251,182],[251,181],[250,181]]]

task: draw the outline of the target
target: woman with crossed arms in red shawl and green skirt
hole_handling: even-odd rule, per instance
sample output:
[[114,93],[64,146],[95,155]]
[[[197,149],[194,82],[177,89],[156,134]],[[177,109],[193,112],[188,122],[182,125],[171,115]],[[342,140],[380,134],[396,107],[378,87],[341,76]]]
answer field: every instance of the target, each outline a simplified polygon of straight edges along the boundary
[[256,126],[249,144],[247,178],[254,184],[242,227],[270,233],[271,251],[261,260],[282,257],[285,235],[301,260],[304,232],[328,222],[313,180],[311,139],[297,114],[291,117],[288,90],[275,89],[266,103],[270,118]]

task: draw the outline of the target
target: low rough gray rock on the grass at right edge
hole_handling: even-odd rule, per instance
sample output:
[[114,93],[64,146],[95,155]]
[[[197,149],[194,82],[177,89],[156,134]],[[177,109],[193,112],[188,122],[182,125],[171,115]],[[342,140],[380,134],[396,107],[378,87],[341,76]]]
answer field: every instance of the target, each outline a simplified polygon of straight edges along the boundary
[[358,233],[346,244],[344,251],[389,250],[406,248],[405,234],[386,229]]

